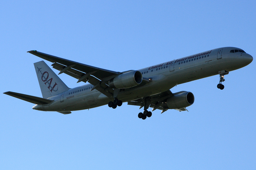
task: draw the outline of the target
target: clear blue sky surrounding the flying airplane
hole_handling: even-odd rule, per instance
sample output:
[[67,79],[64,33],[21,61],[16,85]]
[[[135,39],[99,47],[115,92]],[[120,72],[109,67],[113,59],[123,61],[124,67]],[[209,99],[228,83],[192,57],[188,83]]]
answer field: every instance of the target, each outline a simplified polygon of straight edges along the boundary
[[[33,63],[38,50],[114,71],[136,70],[218,47],[256,57],[256,2],[14,1],[0,2],[2,92],[41,97]],[[50,66],[50,62],[46,61]],[[57,72],[56,70],[54,70]],[[0,167],[8,169],[254,169],[255,72],[178,85],[190,91],[189,112],[139,107],[57,112],[0,94]],[[58,72],[57,72],[58,73]],[[77,80],[60,74],[70,88]]]

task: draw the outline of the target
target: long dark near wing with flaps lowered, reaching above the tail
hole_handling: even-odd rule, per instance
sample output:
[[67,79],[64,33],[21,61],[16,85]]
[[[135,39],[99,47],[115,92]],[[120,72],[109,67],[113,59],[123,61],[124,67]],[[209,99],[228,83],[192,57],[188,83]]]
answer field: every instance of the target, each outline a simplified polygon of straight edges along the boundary
[[35,50],[28,51],[28,53],[52,62],[53,68],[60,71],[59,74],[64,72],[69,76],[77,78],[78,82],[88,81],[94,86],[92,90],[96,89],[108,97],[112,97],[114,95],[114,90],[110,88],[107,84],[111,78],[121,74],[120,72],[89,66],[75,61],[62,59],[60,57],[55,57],[53,55],[41,53]]

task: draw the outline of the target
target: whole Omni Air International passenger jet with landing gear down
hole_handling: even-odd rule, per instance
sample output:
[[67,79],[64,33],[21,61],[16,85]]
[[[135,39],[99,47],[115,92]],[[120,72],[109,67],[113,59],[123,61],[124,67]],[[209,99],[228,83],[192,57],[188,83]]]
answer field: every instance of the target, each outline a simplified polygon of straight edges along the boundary
[[[76,88],[68,88],[44,62],[34,63],[42,98],[5,92],[4,94],[36,104],[32,107],[40,111],[57,111],[69,114],[71,111],[91,109],[108,105],[115,109],[128,105],[144,107],[138,117],[146,119],[152,111],[168,109],[187,111],[194,103],[192,92],[172,93],[171,88],[178,84],[218,75],[217,88],[224,89],[224,75],[250,64],[253,57],[236,47],[212,49],[188,57],[156,64],[140,70],[116,72],[55,57],[36,50],[28,51],[44,60],[52,62],[52,67],[78,79],[89,82]],[[152,107],[152,111],[148,108]]]

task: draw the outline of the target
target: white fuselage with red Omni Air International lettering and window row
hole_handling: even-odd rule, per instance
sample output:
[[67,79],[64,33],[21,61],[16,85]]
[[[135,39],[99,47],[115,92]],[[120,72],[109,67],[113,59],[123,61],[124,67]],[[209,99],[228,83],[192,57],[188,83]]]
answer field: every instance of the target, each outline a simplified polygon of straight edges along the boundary
[[[144,78],[150,82],[142,82],[132,88],[121,89],[117,98],[123,102],[145,98],[171,89],[177,84],[198,80],[242,68],[252,62],[252,56],[247,53],[230,53],[234,47],[213,49],[181,59],[140,69]],[[113,99],[108,98],[93,86],[86,84],[72,88],[64,93],[48,99],[54,102],[46,105],[36,105],[33,109],[42,111],[75,111],[89,109],[108,104]]]

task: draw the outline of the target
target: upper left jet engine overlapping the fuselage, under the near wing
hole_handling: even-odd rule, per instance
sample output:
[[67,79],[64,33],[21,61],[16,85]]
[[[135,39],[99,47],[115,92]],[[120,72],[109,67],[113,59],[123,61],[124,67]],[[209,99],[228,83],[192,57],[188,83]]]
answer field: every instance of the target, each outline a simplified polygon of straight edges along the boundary
[[110,88],[130,88],[137,86],[142,82],[142,74],[139,71],[125,72],[112,78],[108,85]]

